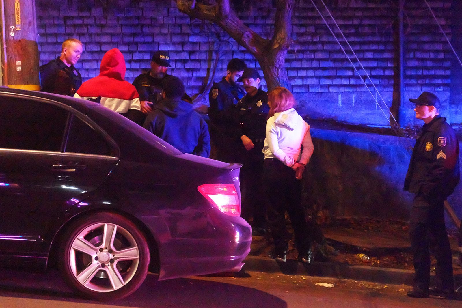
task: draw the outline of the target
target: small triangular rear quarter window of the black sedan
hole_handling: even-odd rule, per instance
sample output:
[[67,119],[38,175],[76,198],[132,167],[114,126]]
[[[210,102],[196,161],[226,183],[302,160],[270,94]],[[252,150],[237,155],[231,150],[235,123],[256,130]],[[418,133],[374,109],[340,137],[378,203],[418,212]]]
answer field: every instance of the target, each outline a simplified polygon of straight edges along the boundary
[[101,133],[75,115],[72,116],[65,152],[111,155],[111,148]]

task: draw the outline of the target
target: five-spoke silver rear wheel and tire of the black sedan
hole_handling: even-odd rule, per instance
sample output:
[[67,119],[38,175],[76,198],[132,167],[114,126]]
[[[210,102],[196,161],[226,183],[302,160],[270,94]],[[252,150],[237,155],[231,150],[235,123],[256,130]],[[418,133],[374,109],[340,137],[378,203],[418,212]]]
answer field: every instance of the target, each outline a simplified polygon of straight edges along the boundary
[[61,241],[59,268],[79,294],[98,301],[132,294],[146,278],[150,254],[134,223],[96,213],[71,223]]

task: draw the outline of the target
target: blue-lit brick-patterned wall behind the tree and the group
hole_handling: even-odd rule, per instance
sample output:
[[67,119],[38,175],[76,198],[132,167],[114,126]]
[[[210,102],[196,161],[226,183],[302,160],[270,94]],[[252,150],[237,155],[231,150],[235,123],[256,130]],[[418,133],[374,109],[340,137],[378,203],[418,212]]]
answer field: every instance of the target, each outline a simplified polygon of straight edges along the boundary
[[[125,56],[128,81],[133,81],[142,68],[149,67],[153,50],[170,50],[171,73],[183,79],[191,95],[201,92],[207,83],[217,50],[223,55],[216,80],[225,73],[226,64],[233,57],[258,67],[253,56],[226,34],[211,31],[213,27],[191,21],[178,12],[175,1],[67,0],[68,7],[60,8],[61,2],[36,0],[40,63],[58,56],[60,44],[66,38],[79,38],[85,44],[85,53],[77,67],[84,79],[98,74],[104,52],[115,47]],[[315,2],[325,14],[322,3]],[[378,93],[390,106],[395,79],[396,6],[388,0],[325,2]],[[450,35],[451,0],[431,2],[439,22]],[[249,8],[240,13],[242,20],[262,36],[270,37],[274,20],[271,0],[248,3]],[[442,99],[443,112],[457,115],[450,121],[462,122],[462,107],[449,103],[453,56],[449,45],[423,1],[407,0],[405,10],[405,102],[401,123],[414,123],[412,108],[406,101],[421,91],[436,92]],[[380,96],[373,88],[372,96],[367,91],[311,1],[296,0],[292,22],[294,43],[287,55],[286,68],[298,99],[298,110],[310,117],[387,125],[387,116],[373,98],[377,97],[388,115]],[[332,21],[329,24],[334,26]],[[337,30],[334,33],[340,34]],[[358,66],[356,61],[353,63]],[[365,76],[364,72],[361,75]]]

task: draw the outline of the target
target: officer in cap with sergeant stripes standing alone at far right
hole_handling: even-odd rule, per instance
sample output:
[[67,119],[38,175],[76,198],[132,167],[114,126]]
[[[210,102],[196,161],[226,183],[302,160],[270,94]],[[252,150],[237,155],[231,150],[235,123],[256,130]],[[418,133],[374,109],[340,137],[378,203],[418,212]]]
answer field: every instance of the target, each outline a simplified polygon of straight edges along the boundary
[[429,238],[436,243],[437,285],[432,291],[454,294],[451,248],[444,225],[444,200],[459,182],[459,142],[446,118],[438,114],[439,99],[423,92],[415,104],[415,117],[425,122],[413,148],[404,190],[415,194],[409,232],[415,278],[411,297],[428,297],[430,284]]

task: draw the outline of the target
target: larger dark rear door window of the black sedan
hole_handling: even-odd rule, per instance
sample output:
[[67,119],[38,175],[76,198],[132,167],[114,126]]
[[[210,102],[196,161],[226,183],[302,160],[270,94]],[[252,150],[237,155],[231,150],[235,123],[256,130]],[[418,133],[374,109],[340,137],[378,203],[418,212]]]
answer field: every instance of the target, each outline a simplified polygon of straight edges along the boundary
[[0,97],[0,148],[60,151],[67,115],[50,103]]

